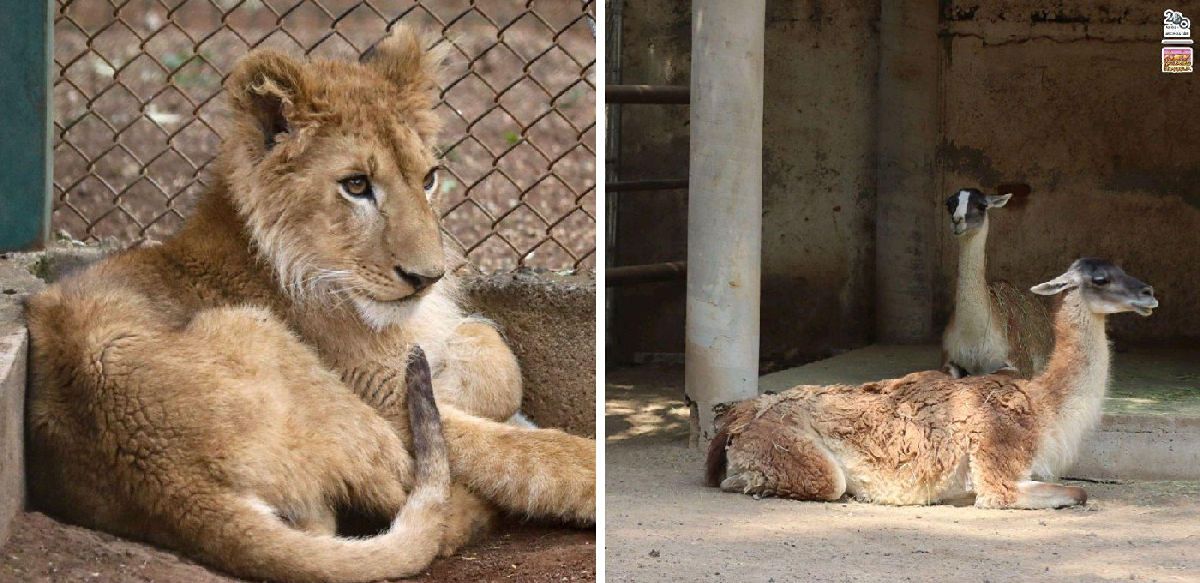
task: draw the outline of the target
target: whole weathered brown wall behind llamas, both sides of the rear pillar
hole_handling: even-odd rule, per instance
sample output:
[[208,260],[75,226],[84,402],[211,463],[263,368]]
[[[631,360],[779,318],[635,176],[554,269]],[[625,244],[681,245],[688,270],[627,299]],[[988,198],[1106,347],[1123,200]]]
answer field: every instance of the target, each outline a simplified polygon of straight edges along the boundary
[[[688,83],[688,4],[626,2],[623,83]],[[1112,319],[1118,341],[1200,338],[1200,74],[1159,72],[1162,11],[1200,1],[943,0],[932,229],[935,339],[952,308],[956,241],[942,200],[962,186],[1027,182],[992,214],[989,271],[1027,286],[1080,256],[1159,290],[1152,318]],[[796,361],[872,341],[880,2],[768,2],[762,355]],[[900,71],[899,73],[904,73]],[[682,176],[685,112],[626,106],[623,179]],[[679,259],[682,193],[626,194],[619,264]],[[611,288],[614,289],[614,288]],[[683,286],[613,294],[611,362],[679,353]]]

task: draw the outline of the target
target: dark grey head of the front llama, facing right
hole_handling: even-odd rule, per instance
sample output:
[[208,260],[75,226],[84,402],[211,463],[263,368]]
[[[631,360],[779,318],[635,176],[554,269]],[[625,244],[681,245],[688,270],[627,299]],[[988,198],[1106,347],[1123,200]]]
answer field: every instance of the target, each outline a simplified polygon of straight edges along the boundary
[[1087,308],[1098,314],[1150,315],[1158,307],[1154,288],[1104,259],[1076,259],[1066,274],[1033,286],[1031,292],[1054,295],[1070,289],[1079,289]]

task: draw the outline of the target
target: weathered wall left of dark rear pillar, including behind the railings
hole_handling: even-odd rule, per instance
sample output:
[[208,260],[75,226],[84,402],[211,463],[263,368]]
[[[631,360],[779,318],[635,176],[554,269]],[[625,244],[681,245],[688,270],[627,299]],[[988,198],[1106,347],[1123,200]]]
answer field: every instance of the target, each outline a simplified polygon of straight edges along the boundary
[[[686,85],[690,2],[625,2],[622,82]],[[877,2],[767,2],[763,112],[766,360],[866,342],[871,327]],[[624,106],[624,180],[688,174],[688,110]],[[622,265],[686,254],[686,194],[623,194]],[[613,361],[683,351],[683,282],[610,288]]]

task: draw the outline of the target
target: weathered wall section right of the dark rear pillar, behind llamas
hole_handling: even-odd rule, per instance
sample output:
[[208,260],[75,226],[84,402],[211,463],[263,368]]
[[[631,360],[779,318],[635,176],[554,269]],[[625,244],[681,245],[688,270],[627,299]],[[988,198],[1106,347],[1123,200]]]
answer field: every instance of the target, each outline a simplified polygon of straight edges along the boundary
[[[1132,342],[1200,338],[1200,76],[1159,71],[1162,13],[1200,2],[948,2],[943,10],[942,192],[1027,182],[992,212],[989,272],[1020,286],[1102,257],[1154,286],[1152,318],[1112,318]],[[944,214],[943,214],[944,216]],[[946,226],[947,223],[938,223]],[[938,233],[948,317],[956,241]]]

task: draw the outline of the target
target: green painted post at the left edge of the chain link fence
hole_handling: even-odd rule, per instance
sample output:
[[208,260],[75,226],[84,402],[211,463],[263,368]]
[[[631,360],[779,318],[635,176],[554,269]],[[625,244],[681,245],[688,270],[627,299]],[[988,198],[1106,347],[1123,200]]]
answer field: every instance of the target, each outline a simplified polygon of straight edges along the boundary
[[50,232],[54,0],[0,0],[0,251]]

